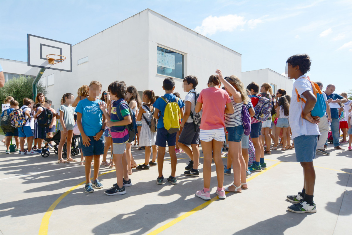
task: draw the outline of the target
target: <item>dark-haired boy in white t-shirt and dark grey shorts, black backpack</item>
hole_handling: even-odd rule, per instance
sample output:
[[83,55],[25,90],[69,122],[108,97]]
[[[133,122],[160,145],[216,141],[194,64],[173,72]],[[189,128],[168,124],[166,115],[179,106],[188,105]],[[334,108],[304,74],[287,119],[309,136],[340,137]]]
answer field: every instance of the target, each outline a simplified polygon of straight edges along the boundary
[[[192,112],[195,115],[196,107],[196,93],[195,88],[198,85],[198,78],[193,75],[189,75],[183,79],[183,91],[188,94],[184,98],[185,111],[181,122],[183,127],[180,138],[178,139],[178,146],[188,155],[191,159],[188,166],[186,167],[184,174],[186,176],[199,177],[198,163],[199,163],[199,133],[200,129],[198,125],[193,123]],[[192,150],[187,146],[190,145]]]

